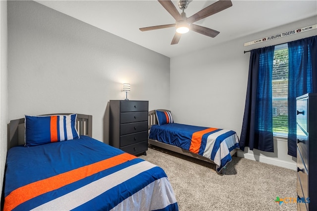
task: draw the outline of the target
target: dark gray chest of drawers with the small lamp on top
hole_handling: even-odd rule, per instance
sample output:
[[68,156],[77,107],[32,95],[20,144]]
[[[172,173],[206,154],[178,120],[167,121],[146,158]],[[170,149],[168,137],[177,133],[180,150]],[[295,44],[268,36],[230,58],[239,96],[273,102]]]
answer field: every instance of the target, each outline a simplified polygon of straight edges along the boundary
[[110,101],[109,145],[132,155],[148,150],[148,101]]

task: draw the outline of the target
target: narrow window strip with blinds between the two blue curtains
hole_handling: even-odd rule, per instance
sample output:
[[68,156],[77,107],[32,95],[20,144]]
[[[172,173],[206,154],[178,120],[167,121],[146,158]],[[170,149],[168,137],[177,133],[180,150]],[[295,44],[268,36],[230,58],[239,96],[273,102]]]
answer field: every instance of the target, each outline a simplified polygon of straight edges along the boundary
[[273,133],[288,133],[288,48],[287,44],[275,46],[272,72]]

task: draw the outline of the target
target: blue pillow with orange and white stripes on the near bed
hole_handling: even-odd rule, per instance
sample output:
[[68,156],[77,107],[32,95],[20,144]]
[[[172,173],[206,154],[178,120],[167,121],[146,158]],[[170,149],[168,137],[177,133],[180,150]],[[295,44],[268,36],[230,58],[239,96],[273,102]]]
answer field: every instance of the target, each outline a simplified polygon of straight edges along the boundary
[[77,114],[28,116],[25,115],[25,146],[78,139]]

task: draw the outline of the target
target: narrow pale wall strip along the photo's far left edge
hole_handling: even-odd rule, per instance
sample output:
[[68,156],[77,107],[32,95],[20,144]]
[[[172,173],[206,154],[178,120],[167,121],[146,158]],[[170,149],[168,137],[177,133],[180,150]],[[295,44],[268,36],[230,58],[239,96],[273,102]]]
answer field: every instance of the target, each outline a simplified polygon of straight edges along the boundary
[[7,149],[7,9],[6,1],[0,1],[0,190]]

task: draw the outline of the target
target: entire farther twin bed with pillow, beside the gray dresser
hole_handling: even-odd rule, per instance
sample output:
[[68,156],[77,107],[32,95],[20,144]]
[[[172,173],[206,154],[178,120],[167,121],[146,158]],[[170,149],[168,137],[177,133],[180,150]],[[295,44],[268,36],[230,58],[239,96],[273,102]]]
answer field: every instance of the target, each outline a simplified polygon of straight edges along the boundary
[[239,148],[236,132],[174,123],[165,109],[149,111],[149,131],[150,145],[214,163],[218,173]]

